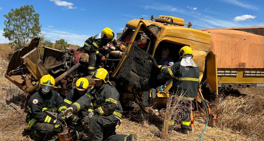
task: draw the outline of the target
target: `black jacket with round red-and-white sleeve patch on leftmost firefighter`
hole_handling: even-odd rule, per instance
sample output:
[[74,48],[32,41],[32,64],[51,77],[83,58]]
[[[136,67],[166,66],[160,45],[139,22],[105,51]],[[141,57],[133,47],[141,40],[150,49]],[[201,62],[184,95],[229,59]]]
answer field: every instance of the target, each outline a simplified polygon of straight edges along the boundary
[[63,112],[67,109],[63,98],[54,90],[51,90],[47,94],[43,94],[41,91],[34,93],[28,100],[28,114],[26,122],[31,127],[35,122],[51,123],[54,119],[46,115],[45,111],[53,112],[57,108],[58,112]]

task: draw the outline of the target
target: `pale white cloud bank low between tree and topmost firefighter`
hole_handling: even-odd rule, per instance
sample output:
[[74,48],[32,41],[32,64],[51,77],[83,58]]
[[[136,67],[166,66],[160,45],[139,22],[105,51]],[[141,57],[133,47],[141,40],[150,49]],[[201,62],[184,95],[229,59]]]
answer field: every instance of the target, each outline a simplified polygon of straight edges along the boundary
[[83,46],[84,41],[91,37],[90,35],[70,33],[67,31],[59,31],[50,28],[43,28],[42,32],[45,34],[45,38],[53,43],[56,40],[65,39],[67,43],[79,46]]

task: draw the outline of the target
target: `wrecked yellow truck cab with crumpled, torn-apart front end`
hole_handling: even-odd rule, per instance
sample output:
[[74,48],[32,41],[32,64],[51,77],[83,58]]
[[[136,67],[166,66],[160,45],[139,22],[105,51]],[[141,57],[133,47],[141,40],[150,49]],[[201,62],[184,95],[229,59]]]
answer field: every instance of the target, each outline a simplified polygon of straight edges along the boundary
[[[170,57],[177,62],[178,51],[183,46],[193,49],[193,60],[200,69],[203,92],[219,96],[218,90],[223,85],[218,85],[220,70],[217,70],[216,53],[210,49],[211,43],[215,47],[211,34],[189,28],[190,22],[188,27],[184,25],[183,19],[171,16],[134,19],[126,24],[118,39],[123,51],[102,51],[107,56],[106,62],[97,62],[96,67],[109,72],[109,81],[119,91],[121,103],[136,99],[145,106],[155,104],[156,107],[164,107],[171,93],[172,79],[156,79],[160,73],[156,59],[161,56],[163,48],[168,48]],[[74,49],[60,51],[43,47],[44,55],[40,58],[38,43],[39,38],[34,38],[28,47],[14,52],[5,73],[7,79],[24,91],[25,98],[28,99],[35,92],[38,80],[45,74],[55,78],[54,89],[62,96],[75,87],[80,77],[86,77],[90,87],[93,87],[95,83],[91,76],[86,76],[88,62],[77,59]],[[263,80],[262,70],[260,72],[254,78],[258,76]]]

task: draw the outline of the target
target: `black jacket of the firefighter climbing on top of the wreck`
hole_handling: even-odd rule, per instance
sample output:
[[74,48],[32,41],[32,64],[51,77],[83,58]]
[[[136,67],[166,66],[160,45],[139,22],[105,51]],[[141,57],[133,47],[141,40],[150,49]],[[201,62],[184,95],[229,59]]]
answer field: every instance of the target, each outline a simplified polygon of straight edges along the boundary
[[[98,48],[102,48],[103,46],[107,45],[107,43],[113,43],[114,45],[117,45],[117,41],[116,39],[111,39],[111,40],[108,40],[108,39],[105,39],[103,38],[102,34],[99,33],[95,36],[92,36],[90,38],[88,38],[85,42],[84,42],[84,46],[82,47],[83,51],[86,52],[86,51],[91,51],[91,50],[94,50],[94,49],[98,49]],[[98,51],[98,50],[95,50],[93,51],[96,55],[98,55],[100,58],[103,57],[103,55]]]

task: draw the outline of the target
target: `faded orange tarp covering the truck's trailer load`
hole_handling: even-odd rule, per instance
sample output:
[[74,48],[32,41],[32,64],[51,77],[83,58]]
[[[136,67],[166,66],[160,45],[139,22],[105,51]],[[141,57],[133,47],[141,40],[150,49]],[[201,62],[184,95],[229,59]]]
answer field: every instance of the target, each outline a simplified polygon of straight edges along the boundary
[[217,68],[264,68],[264,36],[236,30],[205,32],[211,33]]

